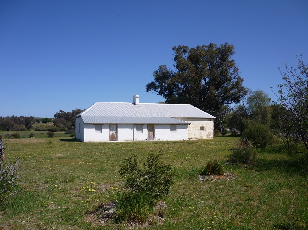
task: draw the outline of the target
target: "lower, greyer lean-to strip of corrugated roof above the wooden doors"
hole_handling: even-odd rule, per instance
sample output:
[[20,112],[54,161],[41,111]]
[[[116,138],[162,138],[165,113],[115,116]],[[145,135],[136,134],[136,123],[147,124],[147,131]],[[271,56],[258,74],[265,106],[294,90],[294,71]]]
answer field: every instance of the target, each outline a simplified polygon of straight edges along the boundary
[[84,116],[85,124],[190,124],[174,118],[167,117],[110,117],[110,116]]

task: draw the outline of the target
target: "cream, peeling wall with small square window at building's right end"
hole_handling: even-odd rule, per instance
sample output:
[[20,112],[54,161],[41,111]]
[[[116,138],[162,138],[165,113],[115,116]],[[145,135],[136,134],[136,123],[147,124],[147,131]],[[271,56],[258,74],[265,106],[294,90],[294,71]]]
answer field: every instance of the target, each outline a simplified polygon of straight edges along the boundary
[[[214,119],[209,118],[176,118],[191,123],[188,125],[188,138],[212,138],[214,132]],[[200,130],[204,127],[204,131]]]

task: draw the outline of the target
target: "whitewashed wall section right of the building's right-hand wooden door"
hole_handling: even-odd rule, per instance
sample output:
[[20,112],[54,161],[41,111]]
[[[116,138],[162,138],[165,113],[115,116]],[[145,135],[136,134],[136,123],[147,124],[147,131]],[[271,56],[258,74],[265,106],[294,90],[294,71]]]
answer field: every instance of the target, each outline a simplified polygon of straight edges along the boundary
[[155,140],[187,140],[188,125],[176,125],[176,133],[170,131],[170,125],[155,125]]

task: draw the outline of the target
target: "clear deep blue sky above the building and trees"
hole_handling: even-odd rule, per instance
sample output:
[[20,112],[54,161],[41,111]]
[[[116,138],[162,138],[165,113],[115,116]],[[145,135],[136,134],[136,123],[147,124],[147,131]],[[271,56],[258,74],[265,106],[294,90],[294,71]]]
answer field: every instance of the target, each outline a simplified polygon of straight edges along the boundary
[[145,91],[172,47],[228,42],[244,86],[276,99],[278,67],[308,63],[308,1],[0,1],[0,116],[53,117]]

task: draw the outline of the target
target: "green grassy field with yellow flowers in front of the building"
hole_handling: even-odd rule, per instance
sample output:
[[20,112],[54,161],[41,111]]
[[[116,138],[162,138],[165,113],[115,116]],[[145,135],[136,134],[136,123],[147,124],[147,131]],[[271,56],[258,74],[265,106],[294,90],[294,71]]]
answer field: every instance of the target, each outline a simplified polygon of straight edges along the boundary
[[[0,204],[0,229],[126,229],[89,216],[122,188],[121,160],[163,150],[176,172],[162,223],[147,229],[307,229],[307,163],[280,146],[259,151],[255,166],[226,164],[233,180],[197,178],[209,160],[226,161],[237,138],[82,143],[73,138],[9,139],[6,161],[19,157],[23,192]],[[306,161],[307,162],[307,161]],[[138,227],[137,227],[138,228]]]

